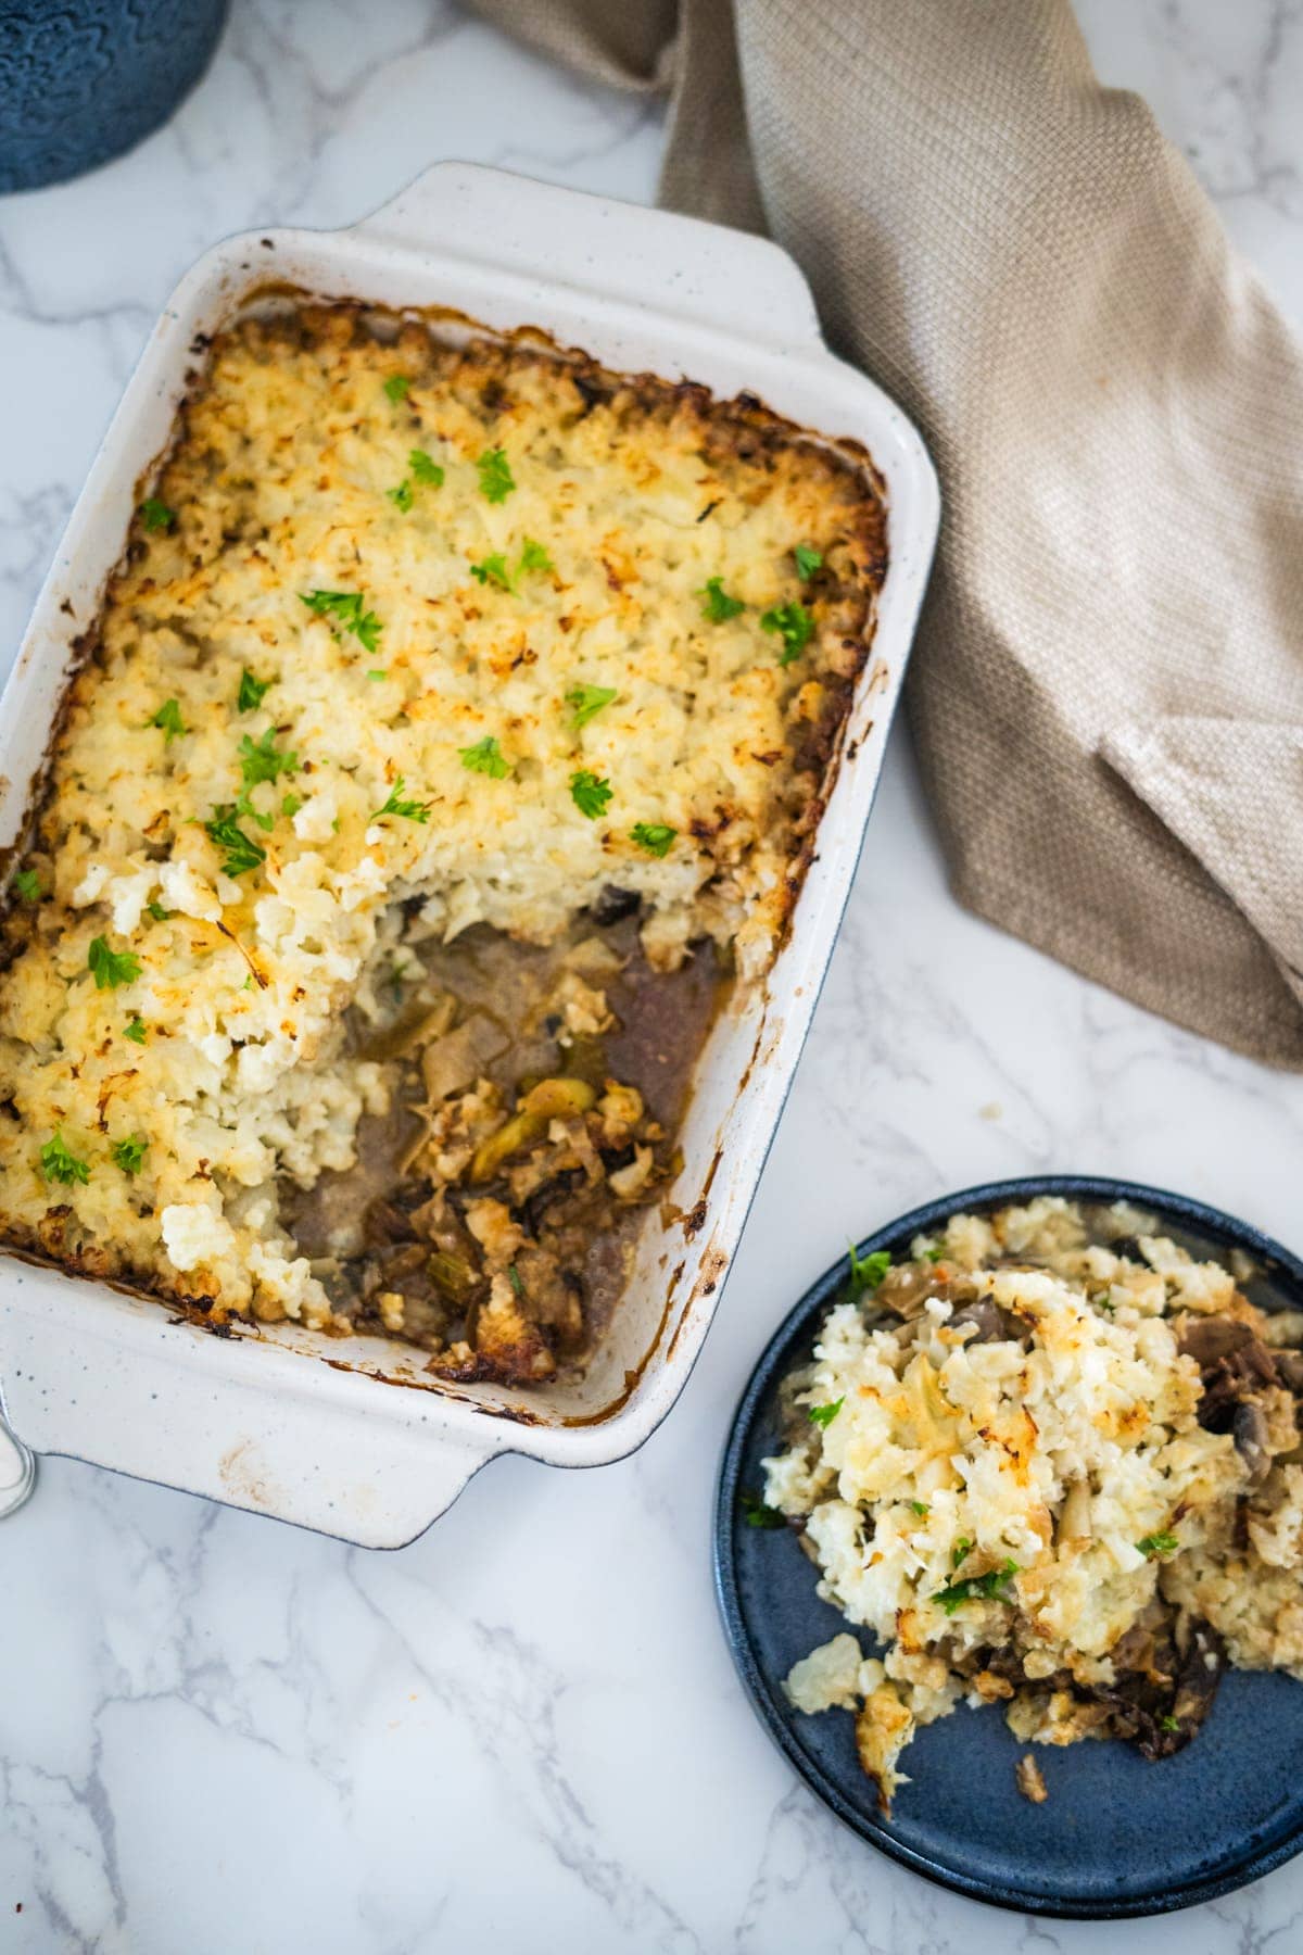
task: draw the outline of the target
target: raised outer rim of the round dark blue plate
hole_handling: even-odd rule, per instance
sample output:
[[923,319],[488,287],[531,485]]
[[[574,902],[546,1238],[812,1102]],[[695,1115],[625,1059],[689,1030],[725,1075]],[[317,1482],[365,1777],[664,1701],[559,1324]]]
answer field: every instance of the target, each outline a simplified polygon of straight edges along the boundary
[[[873,1249],[895,1249],[914,1236],[926,1236],[940,1222],[965,1210],[987,1212],[1006,1202],[1030,1200],[1037,1195],[1057,1195],[1065,1200],[1088,1202],[1133,1202],[1141,1208],[1158,1208],[1164,1216],[1188,1224],[1194,1232],[1225,1241],[1229,1247],[1246,1249],[1272,1275],[1283,1277],[1297,1286],[1303,1304],[1303,1257],[1293,1255],[1283,1243],[1240,1222],[1237,1216],[1188,1195],[1174,1195],[1170,1189],[1156,1189],[1143,1181],[1115,1181],[1110,1175],[1018,1175],[1008,1181],[983,1181],[971,1189],[957,1189],[940,1200],[924,1202],[906,1214],[873,1230],[856,1243],[856,1255],[869,1255]],[[967,1875],[940,1859],[918,1853],[903,1840],[895,1838],[881,1820],[865,1820],[848,1799],[842,1797],[838,1781],[822,1769],[797,1742],[789,1716],[776,1699],[776,1691],[756,1662],[742,1605],[738,1599],[735,1537],[738,1529],[738,1480],[744,1443],[750,1435],[756,1413],[768,1400],[778,1380],[799,1363],[803,1347],[809,1347],[813,1327],[832,1306],[846,1282],[846,1257],[838,1257],[805,1290],[801,1300],[787,1312],[778,1329],[770,1335],[760,1353],[746,1388],[729,1423],[729,1435],[719,1460],[715,1482],[715,1511],[711,1519],[711,1564],[715,1578],[715,1601],[719,1605],[721,1627],[735,1670],[746,1691],[746,1699],[764,1724],[768,1736],[783,1754],[797,1777],[867,1846],[877,1847],[897,1865],[922,1875],[936,1887],[946,1887],[967,1900],[985,1900],[988,1906],[1014,1914],[1041,1914],[1055,1920],[1137,1920],[1155,1914],[1176,1914],[1184,1908],[1219,1900],[1225,1894],[1260,1881],[1276,1867],[1283,1867],[1303,1851],[1303,1810],[1299,1820],[1283,1840],[1248,1849],[1233,1867],[1209,1879],[1186,1881],[1174,1889],[1155,1889],[1119,1900],[1098,1896],[1030,1894],[1012,1887],[1002,1887],[979,1875]]]

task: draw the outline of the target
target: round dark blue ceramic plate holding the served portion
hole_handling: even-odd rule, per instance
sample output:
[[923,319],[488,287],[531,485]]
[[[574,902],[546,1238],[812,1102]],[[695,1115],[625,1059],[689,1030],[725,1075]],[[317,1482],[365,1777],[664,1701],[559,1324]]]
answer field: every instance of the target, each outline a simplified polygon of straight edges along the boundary
[[[1180,1195],[1125,1181],[998,1181],[916,1208],[862,1245],[906,1255],[959,1210],[985,1212],[1033,1195],[1129,1200],[1199,1255],[1244,1247],[1264,1269],[1254,1302],[1303,1308],[1303,1263],[1270,1238]],[[891,1820],[860,1769],[844,1711],[803,1716],[783,1677],[848,1625],[815,1593],[817,1570],[787,1531],[748,1527],[740,1494],[764,1488],[760,1460],[781,1445],[778,1388],[809,1361],[815,1333],[846,1281],[846,1259],[807,1290],[760,1359],[725,1449],[715,1507],[715,1582],[733,1656],[766,1730],[805,1783],[863,1840],[904,1867],[977,1900],[1030,1914],[1117,1918],[1211,1900],[1278,1867],[1303,1846],[1303,1685],[1229,1672],[1194,1744],[1149,1763],[1127,1744],[1037,1746],[1049,1799],[1014,1785],[1020,1746],[1000,1709],[959,1709],[918,1732],[910,1783]],[[869,1648],[867,1636],[862,1642]]]

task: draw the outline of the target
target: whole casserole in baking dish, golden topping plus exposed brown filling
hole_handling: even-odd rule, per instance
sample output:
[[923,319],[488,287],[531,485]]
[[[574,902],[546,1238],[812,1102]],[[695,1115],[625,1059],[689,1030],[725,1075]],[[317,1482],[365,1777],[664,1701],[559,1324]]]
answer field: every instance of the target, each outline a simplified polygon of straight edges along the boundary
[[553,1376],[787,925],[881,483],[541,334],[279,297],[195,356],[12,864],[0,1234]]

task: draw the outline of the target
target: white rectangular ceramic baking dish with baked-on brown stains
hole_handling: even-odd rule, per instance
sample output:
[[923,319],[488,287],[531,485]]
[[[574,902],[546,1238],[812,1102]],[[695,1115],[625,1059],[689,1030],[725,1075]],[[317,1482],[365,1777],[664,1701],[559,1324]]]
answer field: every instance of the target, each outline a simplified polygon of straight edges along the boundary
[[[123,395],[0,704],[0,850],[23,831],[78,637],[94,624],[139,485],[164,450],[211,332],[268,282],[387,307],[541,326],[609,368],[748,389],[871,452],[891,567],[789,940],[701,1056],[674,1187],[649,1216],[609,1339],[580,1384],[453,1388],[420,1353],[295,1325],[215,1337],[158,1302],[0,1257],[0,1390],[16,1433],[64,1453],[367,1546],[430,1525],[496,1453],[559,1466],[621,1458],[658,1425],[701,1349],[795,1071],[850,891],[938,528],[918,434],[819,336],[778,246],[664,211],[438,164],[336,233],[217,244],[182,280]],[[4,856],[0,854],[0,860]]]

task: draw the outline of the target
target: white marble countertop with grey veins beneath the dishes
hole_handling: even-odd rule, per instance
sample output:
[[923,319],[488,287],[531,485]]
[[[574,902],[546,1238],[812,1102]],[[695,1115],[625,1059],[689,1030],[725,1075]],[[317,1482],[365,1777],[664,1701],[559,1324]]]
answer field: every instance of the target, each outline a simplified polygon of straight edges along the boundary
[[[1303,321],[1297,0],[1084,0]],[[652,194],[656,111],[445,0],[234,0],[170,129],[0,199],[0,663],[172,282],[213,239],[338,225],[438,156]],[[1035,1924],[914,1879],[793,1781],[715,1619],[709,1503],[770,1327],[916,1200],[1082,1169],[1303,1239],[1303,1081],[955,907],[897,729],[795,1093],[678,1410],[590,1474],[498,1460],[367,1554],[51,1460],[0,1529],[0,1947],[129,1955],[791,1947],[1260,1955],[1303,1859],[1198,1914]]]

